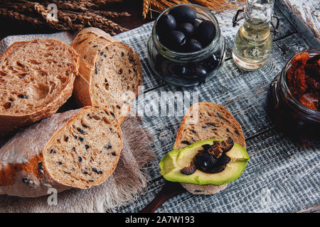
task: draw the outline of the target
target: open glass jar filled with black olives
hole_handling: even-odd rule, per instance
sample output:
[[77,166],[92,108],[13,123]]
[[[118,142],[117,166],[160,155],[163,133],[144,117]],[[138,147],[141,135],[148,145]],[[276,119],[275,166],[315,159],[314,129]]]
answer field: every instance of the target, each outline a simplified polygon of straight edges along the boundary
[[[187,7],[192,10],[188,11]],[[170,12],[174,12],[176,23],[172,23]],[[163,21],[168,28],[162,28],[159,35],[159,23]],[[186,23],[193,25],[193,31]],[[198,36],[190,35],[189,31]],[[149,65],[156,76],[177,86],[191,87],[206,82],[218,72],[225,59],[225,39],[217,19],[208,9],[194,4],[179,4],[161,13],[147,45]]]

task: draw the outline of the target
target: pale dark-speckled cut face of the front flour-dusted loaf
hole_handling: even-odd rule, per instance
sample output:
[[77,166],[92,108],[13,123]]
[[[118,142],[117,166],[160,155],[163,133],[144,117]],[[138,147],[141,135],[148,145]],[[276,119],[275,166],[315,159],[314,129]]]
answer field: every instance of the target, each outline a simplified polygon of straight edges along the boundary
[[44,164],[56,181],[82,189],[105,182],[119,160],[122,133],[112,111],[94,107],[51,138]]

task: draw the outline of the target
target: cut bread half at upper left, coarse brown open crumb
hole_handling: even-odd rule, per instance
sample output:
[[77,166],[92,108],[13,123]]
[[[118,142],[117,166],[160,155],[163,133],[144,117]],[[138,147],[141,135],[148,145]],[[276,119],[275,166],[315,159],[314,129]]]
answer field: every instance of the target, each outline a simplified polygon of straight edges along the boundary
[[0,135],[55,114],[70,98],[79,56],[59,40],[12,44],[0,56]]

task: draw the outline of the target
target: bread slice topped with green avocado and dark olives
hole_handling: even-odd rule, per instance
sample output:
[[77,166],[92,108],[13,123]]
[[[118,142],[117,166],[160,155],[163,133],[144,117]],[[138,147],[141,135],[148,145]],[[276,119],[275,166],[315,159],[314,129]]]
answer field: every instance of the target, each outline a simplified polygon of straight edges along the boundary
[[159,163],[160,173],[193,194],[215,194],[225,189],[240,177],[249,160],[240,124],[213,103],[191,106],[174,149]]

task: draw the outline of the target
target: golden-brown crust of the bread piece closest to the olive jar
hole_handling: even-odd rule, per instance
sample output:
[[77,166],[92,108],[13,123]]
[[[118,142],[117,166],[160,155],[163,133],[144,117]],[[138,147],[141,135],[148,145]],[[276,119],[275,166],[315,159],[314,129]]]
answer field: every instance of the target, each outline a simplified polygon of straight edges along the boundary
[[[73,90],[75,101],[79,106],[103,106],[102,104],[97,104],[97,101],[95,100],[96,97],[94,97],[94,94],[92,94],[92,87],[94,86],[92,84],[92,77],[97,74],[97,72],[95,72],[95,67],[97,60],[100,57],[100,52],[107,48],[107,46],[116,43],[117,45],[121,45],[123,48],[129,50],[129,52],[132,52],[132,49],[128,45],[125,45],[124,43],[112,38],[112,36],[100,30],[99,28],[85,28],[80,31],[80,33],[78,33],[73,40],[72,47],[75,48],[80,55],[80,76],[75,78],[75,86]],[[140,80],[137,89],[133,91],[134,97],[132,97],[132,99],[134,99],[138,96],[139,90],[141,89],[142,67],[137,53],[132,52],[132,56],[134,62],[137,62],[137,65],[139,65],[139,72],[137,72],[137,77],[135,79],[137,79],[137,81],[138,79]],[[127,65],[124,67],[127,67]],[[119,87],[118,89],[122,89],[122,87]],[[121,116],[117,116],[119,123],[124,121],[124,118],[129,112],[131,105],[132,101],[130,101],[128,106],[121,106],[121,108],[123,107],[122,110],[124,111],[122,111],[123,114],[121,114]]]

